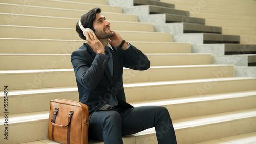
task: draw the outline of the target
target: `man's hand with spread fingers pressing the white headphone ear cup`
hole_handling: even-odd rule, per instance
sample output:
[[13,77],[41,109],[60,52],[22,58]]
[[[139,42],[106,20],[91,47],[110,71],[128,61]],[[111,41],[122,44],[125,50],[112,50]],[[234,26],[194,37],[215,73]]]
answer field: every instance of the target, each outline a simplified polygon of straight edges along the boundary
[[86,32],[86,40],[87,44],[92,47],[93,51],[98,54],[104,54],[105,53],[105,47],[104,45],[99,41],[99,39],[96,37],[96,35],[91,32]]

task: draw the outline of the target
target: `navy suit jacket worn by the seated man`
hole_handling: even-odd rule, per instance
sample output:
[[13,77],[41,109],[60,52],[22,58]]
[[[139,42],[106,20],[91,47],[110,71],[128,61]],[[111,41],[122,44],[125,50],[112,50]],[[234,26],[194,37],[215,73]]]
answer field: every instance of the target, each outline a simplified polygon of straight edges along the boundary
[[110,93],[116,96],[120,106],[132,108],[133,106],[126,103],[125,99],[123,67],[134,70],[147,70],[150,67],[147,56],[133,45],[130,44],[129,49],[126,50],[119,47],[112,48],[113,77],[107,64],[110,57],[96,54],[87,43],[71,55],[79,102],[89,107],[89,114],[105,105],[110,99]]

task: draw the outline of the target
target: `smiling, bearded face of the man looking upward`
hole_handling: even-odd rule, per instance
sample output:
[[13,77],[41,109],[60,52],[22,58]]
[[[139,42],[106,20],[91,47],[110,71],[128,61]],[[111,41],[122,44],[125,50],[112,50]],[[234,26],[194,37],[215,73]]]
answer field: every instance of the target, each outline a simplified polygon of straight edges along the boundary
[[114,35],[110,29],[110,22],[100,13],[96,14],[93,27],[95,29],[94,33],[98,39],[108,39]]

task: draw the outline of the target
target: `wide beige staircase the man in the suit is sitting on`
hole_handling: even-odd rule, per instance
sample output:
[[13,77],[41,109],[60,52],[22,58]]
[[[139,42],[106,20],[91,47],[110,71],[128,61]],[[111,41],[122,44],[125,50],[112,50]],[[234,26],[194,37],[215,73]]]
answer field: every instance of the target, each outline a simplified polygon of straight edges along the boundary
[[[121,4],[127,6],[127,2]],[[55,143],[47,139],[49,101],[56,98],[78,101],[70,55],[84,41],[76,34],[75,24],[84,12],[94,7],[100,7],[111,28],[151,60],[147,71],[124,69],[127,102],[134,106],[168,108],[178,143],[256,141],[253,137],[256,78],[234,77],[236,67],[212,64],[211,54],[191,53],[190,46],[194,43],[173,42],[177,35],[161,32],[159,26],[174,31],[172,27],[183,27],[180,36],[184,32],[189,32],[187,35],[200,32],[195,39],[203,37],[202,45],[220,41],[229,42],[221,45],[232,45],[240,41],[239,36],[221,35],[221,27],[203,25],[203,18],[189,17],[192,23],[164,25],[153,25],[151,19],[138,22],[137,19],[143,21],[140,14],[123,14],[127,9],[106,4],[105,0],[0,0],[2,132],[6,129],[4,115],[8,112],[8,140],[2,137],[0,143]],[[150,9],[146,12],[148,17],[165,17],[164,23],[182,22],[187,17],[175,17],[187,11],[173,9],[172,4],[136,0],[132,5],[135,11],[142,7]],[[158,14],[162,9],[173,13]],[[216,39],[220,37],[221,40]],[[4,111],[7,101],[4,86],[8,86],[7,111]],[[243,140],[246,137],[249,140]],[[154,128],[124,136],[123,140],[124,143],[157,143]],[[90,140],[89,143],[103,142]]]

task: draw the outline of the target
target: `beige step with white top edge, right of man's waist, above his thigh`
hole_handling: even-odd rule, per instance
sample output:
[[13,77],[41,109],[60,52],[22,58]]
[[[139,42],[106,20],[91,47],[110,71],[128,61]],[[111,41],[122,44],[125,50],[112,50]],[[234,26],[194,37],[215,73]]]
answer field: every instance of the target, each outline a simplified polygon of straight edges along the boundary
[[[241,87],[243,83],[243,87]],[[197,80],[180,80],[148,83],[124,84],[126,101],[136,102],[145,100],[188,97],[193,95],[215,94],[253,90],[256,87],[255,78],[214,78]]]

